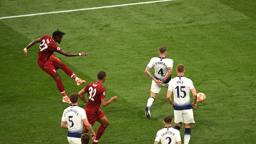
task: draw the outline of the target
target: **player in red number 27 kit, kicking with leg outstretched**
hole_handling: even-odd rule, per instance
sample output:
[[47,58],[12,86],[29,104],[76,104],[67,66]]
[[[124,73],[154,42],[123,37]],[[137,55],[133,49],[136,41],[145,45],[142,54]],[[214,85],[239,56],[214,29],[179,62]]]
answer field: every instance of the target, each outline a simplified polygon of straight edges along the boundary
[[62,36],[64,36],[65,33],[57,31],[52,33],[52,36],[44,35],[34,41],[32,41],[28,46],[26,46],[23,50],[24,54],[27,55],[27,50],[35,45],[36,43],[41,43],[39,47],[38,52],[38,58],[37,63],[39,67],[45,71],[47,74],[49,74],[56,82],[57,88],[59,89],[61,95],[62,95],[62,102],[63,103],[71,103],[69,100],[69,97],[65,93],[64,86],[61,82],[60,76],[57,73],[57,69],[62,69],[68,76],[73,78],[77,85],[81,85],[82,83],[85,83],[85,80],[82,80],[78,78],[74,72],[67,67],[61,60],[53,56],[53,52],[58,52],[65,56],[87,56],[89,54],[82,52],[82,53],[68,53],[62,50],[56,43],[60,43],[62,41]]

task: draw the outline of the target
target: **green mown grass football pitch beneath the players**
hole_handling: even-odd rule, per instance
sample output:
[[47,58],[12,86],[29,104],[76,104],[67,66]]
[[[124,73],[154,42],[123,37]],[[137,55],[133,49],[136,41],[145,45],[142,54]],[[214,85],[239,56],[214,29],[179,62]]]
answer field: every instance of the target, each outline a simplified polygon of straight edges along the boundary
[[[1,0],[0,18],[149,1]],[[69,104],[62,103],[54,80],[38,66],[39,44],[23,54],[31,41],[57,28],[66,33],[58,44],[64,51],[89,56],[53,55],[86,84],[104,70],[106,99],[118,97],[101,107],[110,124],[99,144],[152,144],[164,128],[163,117],[174,118],[166,88],[151,106],[151,120],[145,117],[152,80],[144,71],[161,45],[174,61],[172,77],[184,64],[185,76],[206,95],[193,109],[190,144],[255,143],[255,9],[254,0],[175,0],[0,19],[0,143],[68,143],[60,122]],[[58,73],[68,95],[86,86],[78,87],[61,69]],[[184,131],[183,125],[182,143]]]

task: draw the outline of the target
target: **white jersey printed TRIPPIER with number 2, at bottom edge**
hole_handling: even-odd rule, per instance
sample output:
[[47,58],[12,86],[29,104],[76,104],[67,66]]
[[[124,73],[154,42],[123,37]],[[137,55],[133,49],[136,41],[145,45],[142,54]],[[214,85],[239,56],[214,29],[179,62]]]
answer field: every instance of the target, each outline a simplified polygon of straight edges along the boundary
[[172,127],[165,127],[156,133],[155,141],[159,142],[160,140],[161,144],[176,144],[181,141],[180,131]]

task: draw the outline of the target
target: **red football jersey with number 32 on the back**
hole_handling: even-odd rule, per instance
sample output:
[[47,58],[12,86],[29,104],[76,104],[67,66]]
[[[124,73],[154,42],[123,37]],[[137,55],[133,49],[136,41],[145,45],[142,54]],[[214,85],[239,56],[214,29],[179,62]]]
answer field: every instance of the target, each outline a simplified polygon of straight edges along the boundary
[[88,94],[89,101],[85,106],[86,113],[95,114],[101,105],[101,99],[106,98],[106,89],[99,81],[88,84],[84,88]]

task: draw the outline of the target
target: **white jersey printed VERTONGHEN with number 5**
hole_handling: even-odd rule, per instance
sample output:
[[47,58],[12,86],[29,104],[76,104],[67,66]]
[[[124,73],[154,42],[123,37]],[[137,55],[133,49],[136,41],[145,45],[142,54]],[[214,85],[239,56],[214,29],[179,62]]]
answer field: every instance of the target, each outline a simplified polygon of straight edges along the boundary
[[61,121],[68,123],[68,137],[81,138],[83,134],[83,120],[86,117],[86,112],[83,108],[72,105],[66,108],[63,112]]

